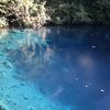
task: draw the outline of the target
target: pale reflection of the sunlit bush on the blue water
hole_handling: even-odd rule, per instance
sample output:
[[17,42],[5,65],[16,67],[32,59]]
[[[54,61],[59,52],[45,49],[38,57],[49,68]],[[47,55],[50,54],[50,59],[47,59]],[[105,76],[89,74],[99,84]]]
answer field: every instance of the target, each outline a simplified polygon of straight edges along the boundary
[[16,41],[18,50],[10,51],[9,57],[12,57],[13,65],[19,69],[18,75],[24,75],[23,79],[33,80],[41,74],[44,65],[47,65],[47,62],[51,61],[54,52],[47,44],[46,34],[48,32],[45,29],[36,32],[24,30],[24,37]]

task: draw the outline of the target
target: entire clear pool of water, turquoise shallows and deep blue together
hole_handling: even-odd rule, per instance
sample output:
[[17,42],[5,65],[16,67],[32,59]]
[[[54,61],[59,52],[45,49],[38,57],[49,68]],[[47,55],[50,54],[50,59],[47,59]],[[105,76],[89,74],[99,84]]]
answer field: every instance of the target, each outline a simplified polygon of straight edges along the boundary
[[10,110],[110,110],[109,28],[1,32],[1,105]]

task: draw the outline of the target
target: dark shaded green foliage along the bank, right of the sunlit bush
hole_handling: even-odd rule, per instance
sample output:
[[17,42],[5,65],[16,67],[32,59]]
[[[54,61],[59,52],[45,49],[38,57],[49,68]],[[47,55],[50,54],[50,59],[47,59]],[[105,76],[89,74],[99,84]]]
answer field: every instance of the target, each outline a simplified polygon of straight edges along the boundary
[[110,23],[110,0],[51,0],[51,16],[56,24]]

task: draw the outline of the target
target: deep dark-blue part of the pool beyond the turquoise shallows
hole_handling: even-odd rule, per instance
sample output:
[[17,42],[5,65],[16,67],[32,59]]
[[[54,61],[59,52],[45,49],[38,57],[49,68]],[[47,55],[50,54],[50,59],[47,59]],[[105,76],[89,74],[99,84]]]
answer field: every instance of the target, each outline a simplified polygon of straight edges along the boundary
[[72,110],[110,110],[110,28],[11,30],[9,35],[21,37],[18,50],[6,48],[15,78]]

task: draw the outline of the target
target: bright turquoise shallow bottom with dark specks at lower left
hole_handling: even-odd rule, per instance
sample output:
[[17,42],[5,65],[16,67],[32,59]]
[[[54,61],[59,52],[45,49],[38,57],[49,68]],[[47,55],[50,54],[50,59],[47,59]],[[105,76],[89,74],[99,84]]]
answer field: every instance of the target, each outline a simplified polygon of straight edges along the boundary
[[70,110],[55,103],[36,90],[31,82],[14,78],[14,68],[3,55],[0,63],[0,106],[6,110]]

